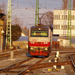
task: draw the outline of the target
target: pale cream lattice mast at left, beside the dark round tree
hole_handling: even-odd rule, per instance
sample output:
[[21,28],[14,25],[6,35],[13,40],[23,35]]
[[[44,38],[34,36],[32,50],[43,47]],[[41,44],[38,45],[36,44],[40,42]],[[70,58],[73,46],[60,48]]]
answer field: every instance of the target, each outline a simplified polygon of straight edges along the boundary
[[8,0],[7,6],[7,25],[6,25],[6,46],[11,48],[11,0]]

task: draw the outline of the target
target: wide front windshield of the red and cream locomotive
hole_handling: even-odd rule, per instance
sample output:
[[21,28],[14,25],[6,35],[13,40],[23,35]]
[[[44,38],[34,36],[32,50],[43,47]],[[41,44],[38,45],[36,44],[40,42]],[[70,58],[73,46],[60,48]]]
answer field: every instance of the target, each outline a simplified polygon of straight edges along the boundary
[[48,31],[31,31],[32,37],[48,37]]

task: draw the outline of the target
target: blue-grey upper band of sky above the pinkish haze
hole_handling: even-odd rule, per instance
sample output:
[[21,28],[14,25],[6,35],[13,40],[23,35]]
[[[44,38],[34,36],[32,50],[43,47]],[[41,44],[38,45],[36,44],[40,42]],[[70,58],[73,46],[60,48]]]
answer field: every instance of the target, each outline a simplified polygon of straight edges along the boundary
[[[35,8],[36,0],[11,0],[12,4],[17,8]],[[8,0],[0,0],[0,3],[8,2]],[[61,8],[62,0],[39,0],[40,8],[58,9]]]

